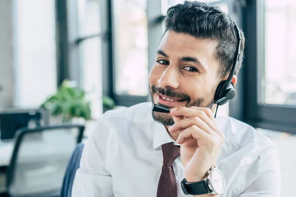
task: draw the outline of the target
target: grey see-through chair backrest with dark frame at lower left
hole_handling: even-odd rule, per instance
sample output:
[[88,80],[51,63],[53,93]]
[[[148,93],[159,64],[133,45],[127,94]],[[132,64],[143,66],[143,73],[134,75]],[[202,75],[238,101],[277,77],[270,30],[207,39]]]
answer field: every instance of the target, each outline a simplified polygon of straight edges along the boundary
[[61,190],[66,167],[83,125],[22,128],[7,169],[6,187],[13,197],[40,195]]

